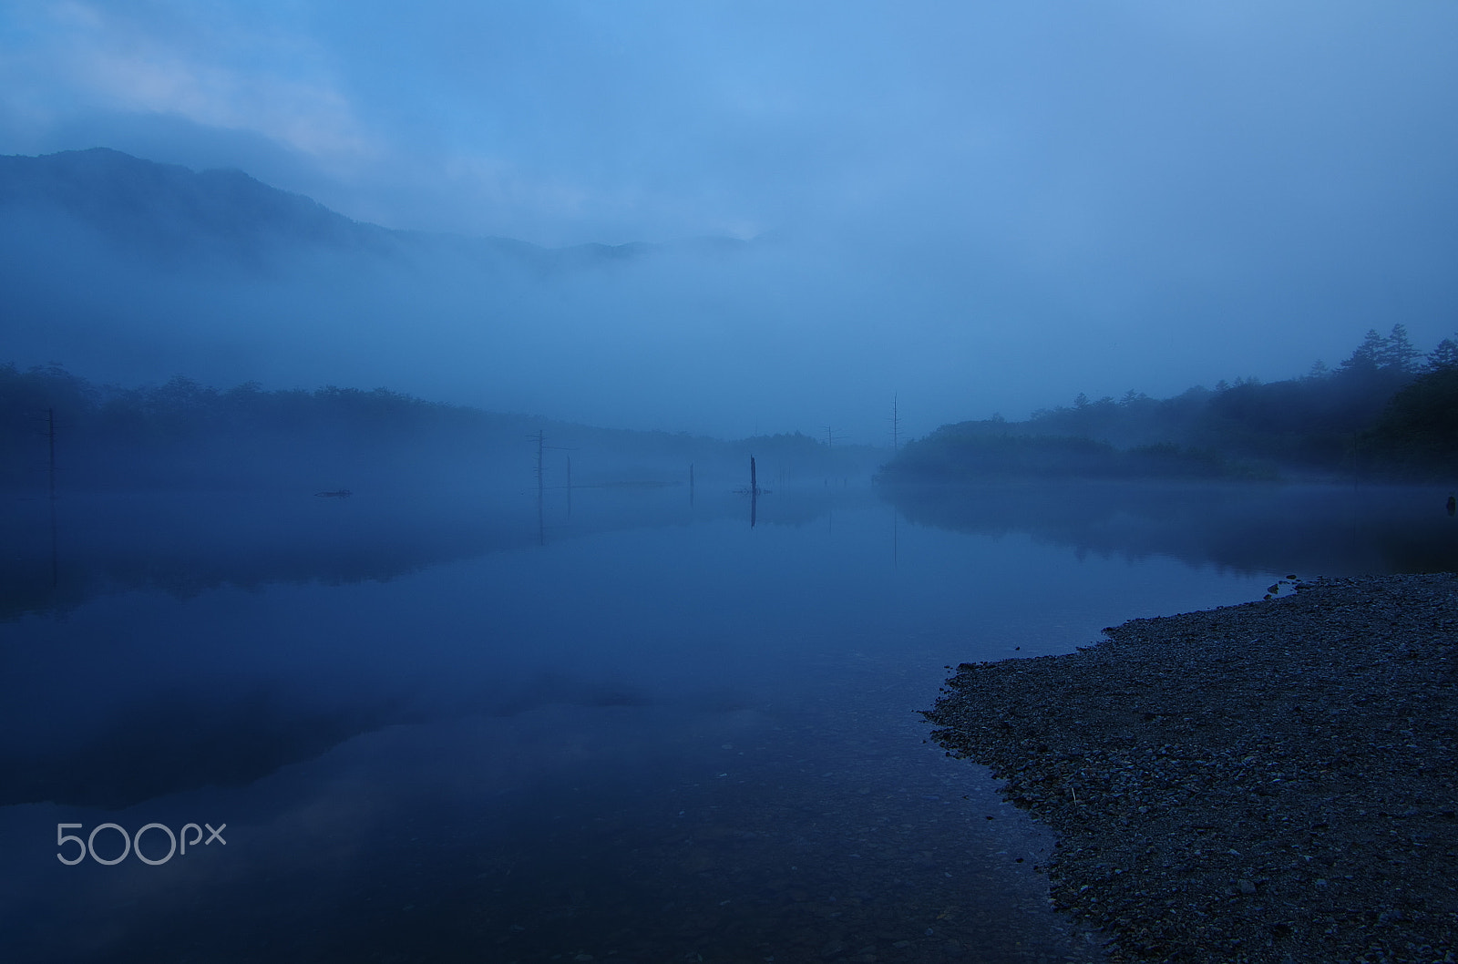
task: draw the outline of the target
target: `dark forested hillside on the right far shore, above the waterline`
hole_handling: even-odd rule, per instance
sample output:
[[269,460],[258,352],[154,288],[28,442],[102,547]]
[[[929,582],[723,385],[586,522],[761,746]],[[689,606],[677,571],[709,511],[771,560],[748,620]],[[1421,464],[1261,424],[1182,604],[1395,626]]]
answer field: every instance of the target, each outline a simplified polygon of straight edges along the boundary
[[1448,480],[1458,473],[1458,341],[1426,356],[1403,325],[1336,369],[1194,386],[1174,398],[1040,410],[942,426],[905,445],[884,481],[983,477],[1334,477]]

